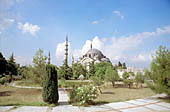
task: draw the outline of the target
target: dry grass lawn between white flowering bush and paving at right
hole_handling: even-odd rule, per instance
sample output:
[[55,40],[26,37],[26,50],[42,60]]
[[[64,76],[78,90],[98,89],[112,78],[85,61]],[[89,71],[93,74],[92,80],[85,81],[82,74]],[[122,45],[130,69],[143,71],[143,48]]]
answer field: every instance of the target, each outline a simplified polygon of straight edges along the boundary
[[102,94],[98,96],[95,102],[109,103],[119,102],[138,98],[145,98],[155,95],[149,88],[129,89],[129,88],[113,88],[112,85],[107,85],[102,88]]

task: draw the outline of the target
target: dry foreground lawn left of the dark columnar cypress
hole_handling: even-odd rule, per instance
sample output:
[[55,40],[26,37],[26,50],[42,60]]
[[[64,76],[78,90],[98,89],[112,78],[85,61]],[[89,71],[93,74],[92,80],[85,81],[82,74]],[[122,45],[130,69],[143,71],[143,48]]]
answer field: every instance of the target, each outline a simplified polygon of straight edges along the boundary
[[49,105],[43,102],[41,91],[41,89],[23,89],[0,85],[0,105]]

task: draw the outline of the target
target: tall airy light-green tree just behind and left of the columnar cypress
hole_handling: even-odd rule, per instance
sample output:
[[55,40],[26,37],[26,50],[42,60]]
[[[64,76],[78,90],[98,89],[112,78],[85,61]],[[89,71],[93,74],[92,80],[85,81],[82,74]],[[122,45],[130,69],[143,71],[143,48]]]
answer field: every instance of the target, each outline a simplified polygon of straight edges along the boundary
[[43,55],[43,50],[39,49],[33,57],[33,81],[42,85],[43,75],[46,73],[47,57]]

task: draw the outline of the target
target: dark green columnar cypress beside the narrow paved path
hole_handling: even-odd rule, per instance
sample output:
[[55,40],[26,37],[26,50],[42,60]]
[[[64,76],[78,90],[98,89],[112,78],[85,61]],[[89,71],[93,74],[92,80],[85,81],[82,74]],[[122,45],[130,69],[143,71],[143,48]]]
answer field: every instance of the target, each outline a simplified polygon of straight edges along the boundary
[[57,80],[57,70],[54,66],[46,66],[46,74],[43,78],[43,92],[42,97],[44,102],[54,103],[58,102],[58,80]]

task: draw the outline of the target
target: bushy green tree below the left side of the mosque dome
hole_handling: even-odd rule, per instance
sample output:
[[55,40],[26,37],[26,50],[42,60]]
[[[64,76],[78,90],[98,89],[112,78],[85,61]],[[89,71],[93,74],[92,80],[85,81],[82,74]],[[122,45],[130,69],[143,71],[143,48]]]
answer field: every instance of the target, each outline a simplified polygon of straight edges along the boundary
[[72,70],[73,70],[73,77],[74,79],[77,79],[80,75],[83,75],[84,77],[87,74],[86,68],[80,64],[80,63],[74,63],[72,64]]

